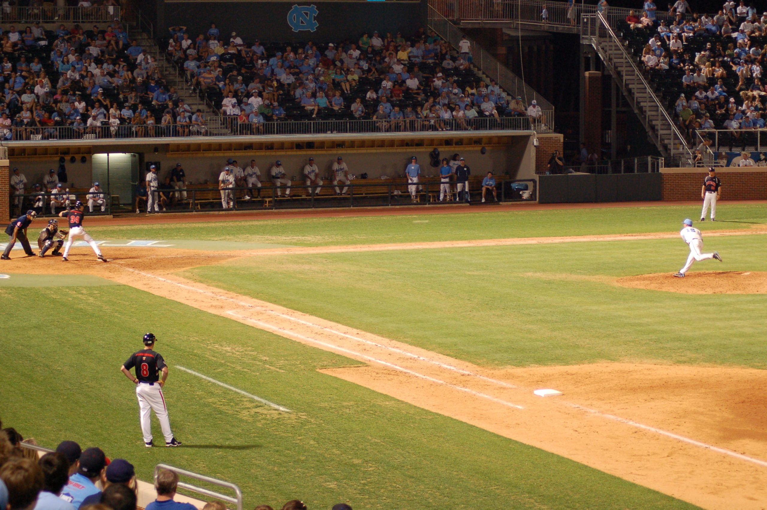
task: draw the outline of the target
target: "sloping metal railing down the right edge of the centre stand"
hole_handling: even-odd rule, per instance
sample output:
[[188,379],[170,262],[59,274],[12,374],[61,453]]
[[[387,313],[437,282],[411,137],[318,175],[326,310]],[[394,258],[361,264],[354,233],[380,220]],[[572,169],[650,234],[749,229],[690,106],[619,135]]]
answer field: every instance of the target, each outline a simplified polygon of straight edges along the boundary
[[[466,35],[453,25],[449,19],[439,14],[432,6],[429,6],[429,27],[437,34],[442,36],[449,42],[454,48],[458,48],[458,43],[461,38]],[[522,97],[525,105],[531,104],[532,100],[538,102],[538,106],[542,110],[551,110],[554,112],[554,106],[548,102],[541,94],[538,94],[532,87],[525,84],[524,81],[516,74],[512,73],[508,67],[501,64],[501,62],[484,50],[481,45],[476,44],[475,41],[467,38],[471,44],[471,63],[479,68],[480,71],[487,74],[494,79],[503,90],[505,90],[512,97]],[[554,128],[554,117],[551,116],[551,120],[548,123],[548,127],[552,130]]]

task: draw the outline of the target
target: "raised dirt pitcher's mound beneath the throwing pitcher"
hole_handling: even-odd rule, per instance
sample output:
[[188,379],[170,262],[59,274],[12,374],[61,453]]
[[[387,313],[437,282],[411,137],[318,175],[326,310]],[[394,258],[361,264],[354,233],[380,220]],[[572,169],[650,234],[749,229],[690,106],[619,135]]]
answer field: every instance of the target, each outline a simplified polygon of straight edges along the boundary
[[700,271],[676,278],[671,272],[618,278],[624,287],[649,288],[653,291],[684,294],[767,294],[767,272]]

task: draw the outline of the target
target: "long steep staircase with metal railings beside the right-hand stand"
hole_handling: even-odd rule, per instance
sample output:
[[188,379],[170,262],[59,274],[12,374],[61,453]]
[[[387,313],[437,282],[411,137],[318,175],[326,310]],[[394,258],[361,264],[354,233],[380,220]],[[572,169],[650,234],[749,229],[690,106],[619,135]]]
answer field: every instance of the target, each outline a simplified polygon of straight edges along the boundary
[[686,163],[693,156],[690,147],[645,80],[634,57],[624,48],[623,41],[617,38],[601,15],[591,16],[593,18],[588,20],[591,22],[584,23],[581,42],[590,44],[604,62],[604,67],[621,88],[648,136],[667,158],[667,166],[670,163],[687,166]]

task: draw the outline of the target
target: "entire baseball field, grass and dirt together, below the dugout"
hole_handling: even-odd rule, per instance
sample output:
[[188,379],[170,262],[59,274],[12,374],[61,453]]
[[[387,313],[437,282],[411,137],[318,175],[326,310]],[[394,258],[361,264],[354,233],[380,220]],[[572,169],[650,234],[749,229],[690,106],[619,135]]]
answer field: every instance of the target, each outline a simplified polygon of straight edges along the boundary
[[[719,209],[86,217],[108,264],[0,265],[0,417],[246,508],[765,508],[767,207]],[[685,218],[723,262],[673,278]],[[147,331],[180,448],[120,373]]]

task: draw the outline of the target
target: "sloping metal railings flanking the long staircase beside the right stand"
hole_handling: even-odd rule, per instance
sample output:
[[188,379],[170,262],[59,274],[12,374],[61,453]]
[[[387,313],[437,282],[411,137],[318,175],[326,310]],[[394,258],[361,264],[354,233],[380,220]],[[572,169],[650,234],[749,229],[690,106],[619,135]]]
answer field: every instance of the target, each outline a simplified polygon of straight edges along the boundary
[[[647,130],[653,129],[660,143],[667,146],[672,158],[679,157],[681,160],[691,163],[693,154],[690,147],[687,146],[685,137],[677,129],[676,123],[669,116],[666,107],[655,95],[642,71],[637,67],[634,57],[624,48],[623,42],[615,35],[607,19],[599,12],[583,15],[583,18],[583,37],[591,41],[591,45],[600,54],[605,66],[611,67],[613,73],[619,77],[618,84],[621,90],[624,91],[626,97],[634,99],[635,110],[637,113],[641,113],[641,117],[644,117],[643,123]],[[620,70],[621,67],[622,71]],[[628,81],[627,69],[630,69],[631,74],[633,74],[632,78],[639,81],[638,84],[636,81],[634,83]],[[641,104],[640,100],[637,100],[634,95],[636,92],[631,91],[630,85],[639,85],[642,88],[642,92],[647,97],[644,100],[646,104]],[[653,118],[652,108],[648,108],[648,106],[657,110],[657,117],[660,117],[657,121]],[[668,134],[664,134],[664,131]]]

